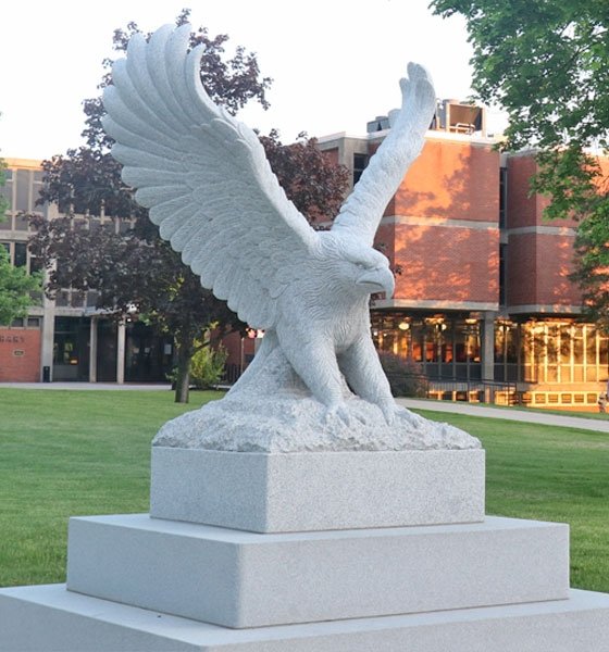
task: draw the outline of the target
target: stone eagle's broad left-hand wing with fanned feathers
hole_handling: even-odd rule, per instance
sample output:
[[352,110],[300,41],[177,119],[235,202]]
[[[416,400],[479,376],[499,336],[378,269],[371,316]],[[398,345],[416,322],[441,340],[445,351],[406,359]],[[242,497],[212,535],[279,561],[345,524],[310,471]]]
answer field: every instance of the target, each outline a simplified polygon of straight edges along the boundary
[[160,235],[239,318],[271,328],[277,298],[319,247],[286,198],[256,134],[216,106],[200,82],[190,27],[130,39],[112,68],[103,126],[123,180]]

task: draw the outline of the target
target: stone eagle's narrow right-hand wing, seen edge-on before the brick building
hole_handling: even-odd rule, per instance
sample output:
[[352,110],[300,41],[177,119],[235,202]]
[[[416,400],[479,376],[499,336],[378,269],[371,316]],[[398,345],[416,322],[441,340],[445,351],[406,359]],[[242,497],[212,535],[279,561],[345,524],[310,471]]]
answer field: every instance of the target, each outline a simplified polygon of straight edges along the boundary
[[434,86],[423,66],[409,63],[400,88],[401,110],[389,114],[389,135],[370,159],[332,226],[333,231],[371,247],[387,203],[423,148],[436,106]]

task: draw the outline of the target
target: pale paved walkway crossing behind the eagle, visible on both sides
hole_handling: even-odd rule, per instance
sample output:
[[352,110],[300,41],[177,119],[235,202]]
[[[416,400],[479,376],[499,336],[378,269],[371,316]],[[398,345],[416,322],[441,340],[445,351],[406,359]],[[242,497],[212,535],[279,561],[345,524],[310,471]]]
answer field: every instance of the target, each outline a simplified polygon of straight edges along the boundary
[[[17,389],[70,389],[70,390],[144,390],[144,391],[170,391],[171,386],[166,384],[159,385],[137,385],[126,383],[117,385],[116,383],[0,383],[0,389],[12,387]],[[449,401],[425,401],[422,399],[397,399],[398,403],[406,408],[417,410],[433,410],[434,412],[451,412],[457,414],[469,414],[471,416],[484,416],[489,418],[504,418],[507,421],[526,422],[530,424],[544,424],[547,426],[561,426],[570,428],[580,428],[582,430],[596,430],[597,432],[609,432],[609,414],[607,421],[582,418],[569,416],[568,414],[549,414],[544,412],[531,412],[529,410],[518,410],[517,408],[486,408],[464,402]]]

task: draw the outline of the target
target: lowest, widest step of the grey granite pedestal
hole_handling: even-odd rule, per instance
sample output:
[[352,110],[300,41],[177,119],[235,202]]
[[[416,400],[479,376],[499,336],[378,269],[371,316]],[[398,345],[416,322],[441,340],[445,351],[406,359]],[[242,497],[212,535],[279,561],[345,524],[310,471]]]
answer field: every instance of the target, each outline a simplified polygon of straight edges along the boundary
[[3,652],[607,652],[609,595],[227,629],[67,591],[0,590]]

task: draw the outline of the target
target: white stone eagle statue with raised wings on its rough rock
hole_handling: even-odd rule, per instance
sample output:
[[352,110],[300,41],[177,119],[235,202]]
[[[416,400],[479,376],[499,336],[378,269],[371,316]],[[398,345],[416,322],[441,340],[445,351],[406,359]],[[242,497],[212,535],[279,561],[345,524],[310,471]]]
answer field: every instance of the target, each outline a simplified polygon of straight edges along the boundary
[[370,333],[371,293],[394,291],[374,235],[435,110],[425,70],[409,64],[388,136],[332,228],[315,231],[286,198],[256,134],[206,93],[201,49],[188,52],[189,34],[188,25],[167,25],[149,41],[130,39],[104,90],[103,125],[124,181],[161,237],[264,338],[222,401],[170,422],[156,443],[471,448],[460,430],[431,428],[396,403]]

